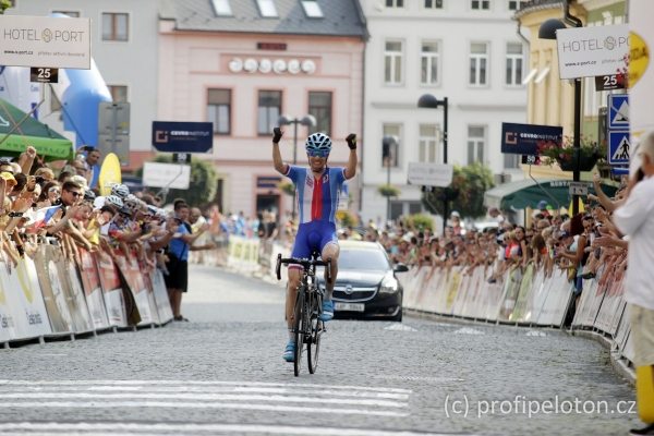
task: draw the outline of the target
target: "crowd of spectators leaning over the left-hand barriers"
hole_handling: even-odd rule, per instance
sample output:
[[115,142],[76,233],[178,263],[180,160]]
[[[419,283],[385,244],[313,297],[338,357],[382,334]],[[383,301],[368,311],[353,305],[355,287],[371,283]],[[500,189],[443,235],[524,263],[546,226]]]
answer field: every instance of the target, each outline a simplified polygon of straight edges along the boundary
[[4,253],[17,263],[25,254],[34,255],[39,245],[51,243],[77,263],[80,250],[102,252],[114,259],[135,255],[145,268],[164,271],[174,319],[186,320],[181,295],[187,290],[189,252],[215,246],[208,240],[197,243],[209,225],[198,223],[199,210],[192,210],[183,199],[167,210],[156,195],[130,193],[120,183],[100,196],[100,157],[96,148],[81,147],[73,160],[51,168],[34,147],[27,147],[15,159],[0,159]]

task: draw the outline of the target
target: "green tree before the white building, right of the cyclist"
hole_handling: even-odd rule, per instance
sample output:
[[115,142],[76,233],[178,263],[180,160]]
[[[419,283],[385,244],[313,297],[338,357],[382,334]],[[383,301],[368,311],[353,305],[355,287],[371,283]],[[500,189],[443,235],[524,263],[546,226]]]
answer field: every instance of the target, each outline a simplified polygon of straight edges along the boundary
[[422,202],[432,214],[444,215],[444,199],[447,197],[449,211],[458,210],[464,218],[479,218],[486,215],[484,193],[493,186],[493,172],[485,165],[455,166],[452,183],[448,187],[434,187],[432,192],[423,193]]

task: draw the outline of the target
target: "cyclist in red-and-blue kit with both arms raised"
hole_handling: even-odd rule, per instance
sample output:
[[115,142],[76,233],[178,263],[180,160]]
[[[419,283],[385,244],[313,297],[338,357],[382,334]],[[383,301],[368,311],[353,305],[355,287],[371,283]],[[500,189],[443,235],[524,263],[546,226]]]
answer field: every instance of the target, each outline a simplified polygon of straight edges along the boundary
[[[298,202],[299,227],[291,257],[310,258],[312,252],[320,253],[323,261],[331,261],[330,280],[326,282],[326,295],[323,300],[320,320],[334,317],[334,283],[338,274],[338,238],[336,235],[336,211],[338,196],[346,180],[356,174],[356,135],[351,133],[346,138],[350,147],[347,167],[327,167],[331,140],[324,133],[313,133],[306,138],[305,148],[308,168],[284,164],[279,153],[279,141],[282,132],[275,128],[272,136],[272,162],[275,169],[288,177],[295,186]],[[286,319],[289,327],[289,342],[283,352],[283,360],[293,362],[295,339],[292,332],[293,307],[298,287],[302,277],[301,265],[289,265],[289,283],[286,299]]]

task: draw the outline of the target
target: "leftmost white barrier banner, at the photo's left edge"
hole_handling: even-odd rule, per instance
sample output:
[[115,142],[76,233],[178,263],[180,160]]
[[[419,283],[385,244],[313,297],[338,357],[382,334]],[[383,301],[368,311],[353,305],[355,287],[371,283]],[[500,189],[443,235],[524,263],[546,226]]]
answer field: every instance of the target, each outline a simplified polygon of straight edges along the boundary
[[10,290],[13,300],[15,339],[38,338],[52,334],[34,261],[25,256],[9,271],[1,268],[0,276],[0,282],[4,289]]

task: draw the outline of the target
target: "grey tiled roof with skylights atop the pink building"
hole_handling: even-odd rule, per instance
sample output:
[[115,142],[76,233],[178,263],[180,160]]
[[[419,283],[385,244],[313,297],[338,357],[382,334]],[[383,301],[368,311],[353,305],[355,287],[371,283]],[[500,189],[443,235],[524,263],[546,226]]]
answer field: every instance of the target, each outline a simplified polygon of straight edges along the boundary
[[[307,16],[302,0],[271,1],[277,10],[276,17],[264,17],[258,0],[165,0],[159,9],[159,17],[174,21],[177,31],[353,36],[367,39],[365,17],[359,0],[315,0],[323,17]],[[214,2],[227,2],[231,15],[219,15]]]

